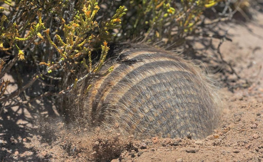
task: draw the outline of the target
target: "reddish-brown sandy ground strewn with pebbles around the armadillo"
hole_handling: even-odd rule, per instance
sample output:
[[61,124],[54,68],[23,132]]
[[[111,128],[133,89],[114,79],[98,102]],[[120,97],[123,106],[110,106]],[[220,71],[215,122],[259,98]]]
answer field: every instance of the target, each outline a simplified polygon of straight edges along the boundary
[[[222,122],[205,139],[137,140],[100,128],[65,126],[44,99],[2,114],[0,161],[263,161],[263,14],[256,18],[246,25],[222,25],[232,42],[224,42],[221,53],[242,79],[214,75],[221,84]],[[206,66],[213,73],[215,68]],[[14,89],[12,84],[8,90]]]

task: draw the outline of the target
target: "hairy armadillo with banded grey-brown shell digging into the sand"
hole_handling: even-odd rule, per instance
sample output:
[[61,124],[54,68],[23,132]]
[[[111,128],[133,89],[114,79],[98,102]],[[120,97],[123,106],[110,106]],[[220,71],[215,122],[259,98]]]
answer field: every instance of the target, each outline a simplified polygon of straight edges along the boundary
[[186,137],[190,132],[202,138],[211,133],[218,119],[217,97],[192,62],[137,45],[115,52],[104,70],[112,64],[114,71],[94,81],[81,99],[90,123],[108,128],[117,124],[137,137]]

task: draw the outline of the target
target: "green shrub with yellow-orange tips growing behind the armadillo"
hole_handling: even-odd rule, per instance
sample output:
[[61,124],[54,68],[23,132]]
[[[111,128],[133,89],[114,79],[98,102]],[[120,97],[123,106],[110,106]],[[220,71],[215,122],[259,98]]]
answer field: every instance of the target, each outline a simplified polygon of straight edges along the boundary
[[[141,40],[175,48],[186,37],[201,34],[206,9],[225,4],[221,0],[1,0],[0,3],[0,77],[10,73],[18,84],[18,90],[4,94],[9,80],[1,79],[0,113],[7,101],[23,95],[20,92],[31,93],[31,98],[11,102],[8,107],[50,94],[77,97],[87,93],[91,85],[80,94],[72,92],[81,81],[91,81],[114,69],[111,66],[100,74],[110,48],[107,42]],[[216,17],[215,22],[222,18],[226,16]],[[42,83],[39,96],[32,95],[31,89],[37,81]]]

